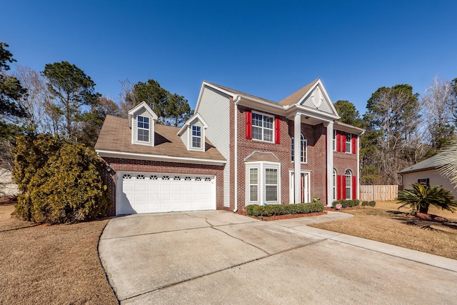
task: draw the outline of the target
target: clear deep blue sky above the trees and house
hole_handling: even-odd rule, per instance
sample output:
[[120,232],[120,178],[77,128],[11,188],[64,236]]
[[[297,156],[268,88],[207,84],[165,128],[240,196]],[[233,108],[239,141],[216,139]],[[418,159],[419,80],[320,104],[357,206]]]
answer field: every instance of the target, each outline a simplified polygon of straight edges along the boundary
[[[381,86],[457,78],[457,1],[4,1],[23,66],[69,61],[119,100],[155,79],[194,108],[207,80],[280,101],[320,77],[363,114]],[[12,67],[14,69],[14,66]]]

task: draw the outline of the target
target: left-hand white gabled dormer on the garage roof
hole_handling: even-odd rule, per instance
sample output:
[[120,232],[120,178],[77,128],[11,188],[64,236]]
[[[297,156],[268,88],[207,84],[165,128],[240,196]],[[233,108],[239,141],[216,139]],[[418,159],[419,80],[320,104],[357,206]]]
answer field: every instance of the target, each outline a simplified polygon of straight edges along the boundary
[[131,144],[154,146],[154,126],[157,115],[151,107],[142,101],[129,111],[129,128]]

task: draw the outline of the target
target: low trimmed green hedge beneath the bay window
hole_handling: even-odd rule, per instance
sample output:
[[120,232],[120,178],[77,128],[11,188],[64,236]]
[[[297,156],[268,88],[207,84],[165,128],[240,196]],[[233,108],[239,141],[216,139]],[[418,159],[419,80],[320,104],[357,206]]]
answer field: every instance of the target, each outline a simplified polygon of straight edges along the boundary
[[246,206],[249,216],[276,216],[286,214],[307,214],[323,211],[323,204],[312,202],[309,204],[267,204],[266,206],[258,206],[250,204]]

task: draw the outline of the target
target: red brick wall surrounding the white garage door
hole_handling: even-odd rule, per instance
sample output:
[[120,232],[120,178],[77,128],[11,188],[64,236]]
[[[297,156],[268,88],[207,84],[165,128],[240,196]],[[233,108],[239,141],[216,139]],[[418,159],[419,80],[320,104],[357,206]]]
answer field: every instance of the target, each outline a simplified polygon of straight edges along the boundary
[[184,164],[164,161],[102,158],[106,166],[103,176],[109,186],[111,209],[109,215],[116,215],[116,172],[144,171],[171,174],[201,174],[216,176],[216,209],[224,209],[224,166],[206,164]]

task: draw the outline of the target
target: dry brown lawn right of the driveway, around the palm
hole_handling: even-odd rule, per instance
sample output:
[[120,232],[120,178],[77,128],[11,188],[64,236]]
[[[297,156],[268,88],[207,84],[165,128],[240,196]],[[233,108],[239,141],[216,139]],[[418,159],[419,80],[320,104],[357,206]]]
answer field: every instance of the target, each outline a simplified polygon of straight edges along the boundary
[[396,201],[380,201],[374,208],[360,206],[344,211],[355,215],[351,219],[312,226],[457,259],[457,214],[433,207],[429,214],[449,221],[425,221],[403,216],[398,206]]

